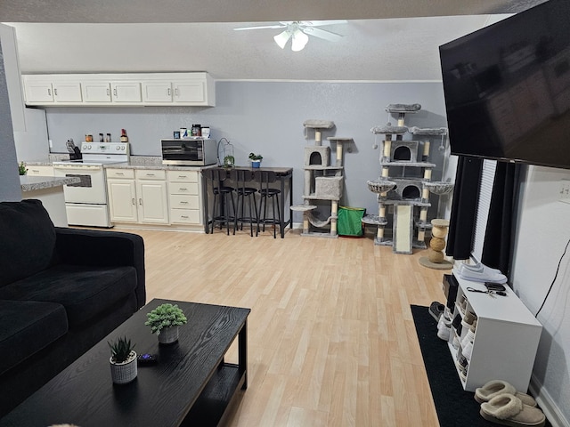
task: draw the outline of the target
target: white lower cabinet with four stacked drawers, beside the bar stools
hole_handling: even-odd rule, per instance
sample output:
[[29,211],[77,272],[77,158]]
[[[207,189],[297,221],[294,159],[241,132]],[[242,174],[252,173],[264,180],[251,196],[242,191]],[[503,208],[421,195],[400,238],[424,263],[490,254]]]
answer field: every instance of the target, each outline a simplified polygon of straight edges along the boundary
[[199,171],[167,171],[170,222],[201,225]]

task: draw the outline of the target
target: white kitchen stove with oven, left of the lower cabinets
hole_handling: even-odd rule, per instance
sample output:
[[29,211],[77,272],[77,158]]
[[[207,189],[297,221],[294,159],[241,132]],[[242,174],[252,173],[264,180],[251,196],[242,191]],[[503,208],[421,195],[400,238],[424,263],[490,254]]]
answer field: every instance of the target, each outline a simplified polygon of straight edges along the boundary
[[69,225],[112,227],[110,223],[105,165],[126,165],[128,142],[83,142],[81,160],[53,162],[55,176],[74,176],[77,184],[63,186]]

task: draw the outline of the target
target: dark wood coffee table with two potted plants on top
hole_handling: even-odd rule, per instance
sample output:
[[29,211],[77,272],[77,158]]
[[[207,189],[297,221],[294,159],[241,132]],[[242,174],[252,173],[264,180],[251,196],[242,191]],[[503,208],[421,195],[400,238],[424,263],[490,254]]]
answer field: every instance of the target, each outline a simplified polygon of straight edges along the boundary
[[[163,346],[144,326],[146,313],[167,300],[152,300],[111,334],[0,419],[0,426],[217,425],[247,377],[249,309],[172,302],[188,323],[178,343]],[[156,353],[159,363],[139,366],[133,383],[113,385],[108,341],[126,335],[137,353]],[[224,355],[238,337],[238,364]],[[3,391],[10,392],[10,391]]]

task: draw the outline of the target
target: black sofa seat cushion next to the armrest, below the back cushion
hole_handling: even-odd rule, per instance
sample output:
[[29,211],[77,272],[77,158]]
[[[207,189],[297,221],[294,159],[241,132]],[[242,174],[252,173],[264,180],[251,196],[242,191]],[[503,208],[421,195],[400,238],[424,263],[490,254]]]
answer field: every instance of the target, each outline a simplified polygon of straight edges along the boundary
[[59,302],[69,328],[79,326],[134,292],[134,267],[85,267],[58,264],[0,288],[0,298]]

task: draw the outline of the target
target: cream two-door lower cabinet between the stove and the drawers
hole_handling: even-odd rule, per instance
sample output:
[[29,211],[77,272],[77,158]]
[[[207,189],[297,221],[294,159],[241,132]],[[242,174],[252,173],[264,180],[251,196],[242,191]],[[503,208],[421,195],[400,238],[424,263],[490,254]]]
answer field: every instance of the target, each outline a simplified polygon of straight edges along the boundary
[[168,224],[166,171],[107,169],[111,222]]

